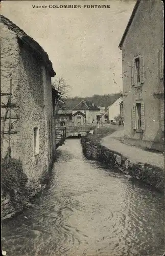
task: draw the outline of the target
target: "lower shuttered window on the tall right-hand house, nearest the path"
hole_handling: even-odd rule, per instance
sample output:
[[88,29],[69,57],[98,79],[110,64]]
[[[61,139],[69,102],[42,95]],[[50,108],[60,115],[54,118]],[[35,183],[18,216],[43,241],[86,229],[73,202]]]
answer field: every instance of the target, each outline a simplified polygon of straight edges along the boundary
[[136,102],[132,106],[132,129],[145,130],[145,105],[144,102]]

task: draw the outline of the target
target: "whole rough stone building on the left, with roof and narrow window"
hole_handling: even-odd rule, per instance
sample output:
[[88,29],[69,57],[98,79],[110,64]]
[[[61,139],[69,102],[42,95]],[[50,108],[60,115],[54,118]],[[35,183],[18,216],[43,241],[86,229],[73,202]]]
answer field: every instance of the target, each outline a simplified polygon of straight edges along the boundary
[[48,170],[56,150],[56,91],[51,84],[55,75],[41,46],[1,15],[2,157],[10,137],[11,156],[20,159],[33,183]]

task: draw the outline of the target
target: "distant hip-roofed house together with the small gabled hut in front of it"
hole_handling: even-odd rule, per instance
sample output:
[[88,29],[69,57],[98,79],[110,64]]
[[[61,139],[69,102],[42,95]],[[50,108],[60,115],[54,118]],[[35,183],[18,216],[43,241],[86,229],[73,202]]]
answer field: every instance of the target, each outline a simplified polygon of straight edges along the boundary
[[72,110],[75,125],[92,124],[100,121],[100,109],[89,100],[82,100]]

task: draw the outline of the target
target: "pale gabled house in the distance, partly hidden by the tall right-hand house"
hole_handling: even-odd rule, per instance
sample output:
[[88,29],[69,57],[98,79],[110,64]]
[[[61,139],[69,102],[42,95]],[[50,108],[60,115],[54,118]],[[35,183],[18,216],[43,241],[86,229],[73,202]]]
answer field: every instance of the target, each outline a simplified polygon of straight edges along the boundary
[[107,107],[108,121],[115,122],[115,117],[120,115],[120,103],[123,101],[123,98],[120,97],[113,104]]

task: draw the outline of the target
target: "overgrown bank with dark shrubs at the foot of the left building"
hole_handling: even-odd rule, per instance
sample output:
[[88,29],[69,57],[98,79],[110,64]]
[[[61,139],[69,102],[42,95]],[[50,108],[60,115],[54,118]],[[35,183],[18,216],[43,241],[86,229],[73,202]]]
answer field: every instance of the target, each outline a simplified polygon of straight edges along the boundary
[[[55,157],[53,161],[55,161]],[[37,181],[31,182],[28,182],[26,174],[20,168],[21,165],[13,165],[12,163],[11,168],[7,169],[2,161],[2,170],[4,171],[1,191],[2,221],[10,219],[24,209],[33,206],[31,201],[39,196],[49,183],[53,161],[50,163],[49,169],[45,169]]]

